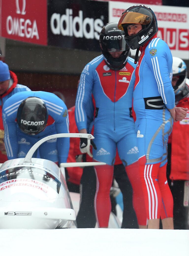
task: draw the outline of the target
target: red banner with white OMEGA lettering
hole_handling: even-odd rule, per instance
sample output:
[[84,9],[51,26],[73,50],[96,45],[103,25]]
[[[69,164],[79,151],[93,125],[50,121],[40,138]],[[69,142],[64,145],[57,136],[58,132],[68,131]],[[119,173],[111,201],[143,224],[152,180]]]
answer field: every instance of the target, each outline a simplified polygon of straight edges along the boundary
[[47,0],[0,0],[0,36],[47,45]]

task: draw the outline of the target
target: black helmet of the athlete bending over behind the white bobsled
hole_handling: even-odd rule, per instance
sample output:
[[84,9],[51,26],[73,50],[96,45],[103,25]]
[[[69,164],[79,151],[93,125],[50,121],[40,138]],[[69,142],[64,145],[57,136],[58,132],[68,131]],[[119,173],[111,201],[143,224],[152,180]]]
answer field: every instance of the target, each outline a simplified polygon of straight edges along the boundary
[[35,135],[43,131],[48,119],[45,103],[38,97],[23,100],[17,111],[17,123],[22,132]]

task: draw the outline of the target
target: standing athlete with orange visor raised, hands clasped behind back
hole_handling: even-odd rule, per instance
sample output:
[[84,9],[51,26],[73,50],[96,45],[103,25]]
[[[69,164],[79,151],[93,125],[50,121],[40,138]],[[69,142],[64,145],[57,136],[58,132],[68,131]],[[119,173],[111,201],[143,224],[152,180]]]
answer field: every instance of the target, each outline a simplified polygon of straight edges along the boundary
[[118,28],[124,30],[130,48],[137,49],[135,62],[141,51],[135,71],[133,108],[148,228],[159,229],[161,216],[163,228],[173,229],[173,198],[166,178],[167,141],[173,121],[182,120],[187,109],[175,110],[172,55],[166,42],[156,35],[157,19],[150,7],[129,7]]

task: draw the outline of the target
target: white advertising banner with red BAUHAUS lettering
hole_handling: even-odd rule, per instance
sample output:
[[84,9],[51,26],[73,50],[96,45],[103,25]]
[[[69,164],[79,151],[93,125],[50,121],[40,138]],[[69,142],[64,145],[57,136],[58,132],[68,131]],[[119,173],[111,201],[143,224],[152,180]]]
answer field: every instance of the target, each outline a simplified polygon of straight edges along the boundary
[[[109,1],[109,22],[118,22],[121,14],[137,3]],[[189,8],[149,5],[155,12],[158,22],[157,36],[167,42],[172,55],[189,59]],[[134,55],[134,51],[132,51]]]

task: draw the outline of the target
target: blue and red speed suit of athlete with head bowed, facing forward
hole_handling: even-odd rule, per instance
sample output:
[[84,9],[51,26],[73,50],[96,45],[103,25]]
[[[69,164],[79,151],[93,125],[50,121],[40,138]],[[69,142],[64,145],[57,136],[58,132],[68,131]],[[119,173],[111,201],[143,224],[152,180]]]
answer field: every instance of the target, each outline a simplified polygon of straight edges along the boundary
[[[139,225],[146,225],[146,213],[139,210],[142,203],[138,189],[138,149],[136,132],[131,114],[133,88],[135,81],[134,60],[128,57],[126,66],[121,70],[110,69],[100,55],[89,62],[80,76],[77,90],[75,119],[78,130],[87,129],[88,100],[91,93],[95,99],[96,114],[94,119],[93,159],[107,163],[106,166],[95,167],[97,174],[97,193],[95,209],[99,227],[108,227],[111,211],[110,188],[113,178],[113,165],[116,147],[119,156],[126,166],[127,175],[133,187],[133,204]],[[144,216],[144,218],[143,218]]]

